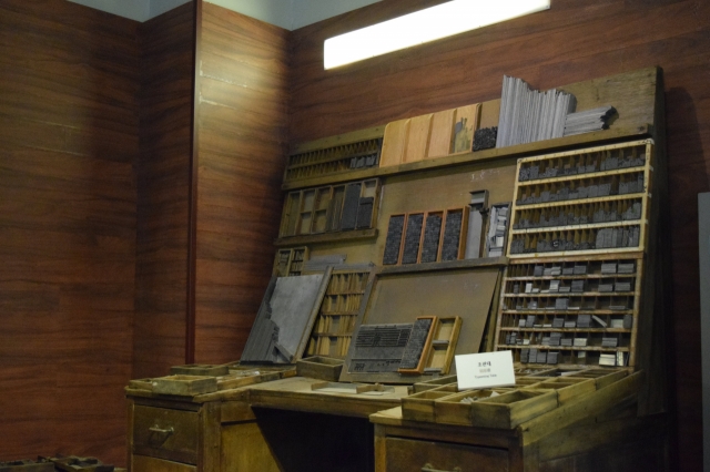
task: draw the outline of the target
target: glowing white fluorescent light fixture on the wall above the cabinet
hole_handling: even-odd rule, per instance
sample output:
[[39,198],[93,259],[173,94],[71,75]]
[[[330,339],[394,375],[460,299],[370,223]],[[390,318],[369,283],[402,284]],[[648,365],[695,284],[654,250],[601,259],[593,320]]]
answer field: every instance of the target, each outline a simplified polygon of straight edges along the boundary
[[453,0],[325,40],[325,69],[499,23],[550,8],[550,0]]

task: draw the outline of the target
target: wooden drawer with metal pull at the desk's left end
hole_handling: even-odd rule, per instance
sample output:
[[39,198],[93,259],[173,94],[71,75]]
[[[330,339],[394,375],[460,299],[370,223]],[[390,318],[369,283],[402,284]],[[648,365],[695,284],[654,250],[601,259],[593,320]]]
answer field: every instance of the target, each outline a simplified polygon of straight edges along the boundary
[[195,411],[135,406],[134,454],[196,464],[199,433]]

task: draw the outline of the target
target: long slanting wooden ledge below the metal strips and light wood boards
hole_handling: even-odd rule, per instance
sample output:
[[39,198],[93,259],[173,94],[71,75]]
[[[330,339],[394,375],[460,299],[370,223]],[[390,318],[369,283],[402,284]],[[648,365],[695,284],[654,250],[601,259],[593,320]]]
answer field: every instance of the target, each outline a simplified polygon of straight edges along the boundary
[[[344,183],[349,181],[358,181],[371,177],[383,177],[398,174],[408,174],[413,172],[429,171],[434,168],[450,167],[465,165],[470,163],[489,162],[497,160],[506,160],[514,157],[525,157],[539,153],[548,153],[555,150],[584,147],[588,144],[611,143],[629,138],[650,137],[652,126],[649,124],[637,127],[611,127],[605,131],[592,133],[576,134],[572,136],[557,137],[554,140],[537,141],[535,143],[518,144],[515,146],[496,147],[493,150],[466,152],[458,154],[449,154],[442,157],[427,158],[406,164],[393,165],[387,167],[364,168],[361,171],[349,171],[339,174],[331,174],[322,177],[310,177],[298,181],[291,181],[282,185],[283,191],[293,191],[297,188],[317,187],[320,185]],[[638,172],[638,171],[637,171]],[[586,174],[580,174],[586,175]],[[594,175],[594,174],[589,174]],[[579,178],[579,176],[577,176]],[[541,181],[532,181],[540,183]]]

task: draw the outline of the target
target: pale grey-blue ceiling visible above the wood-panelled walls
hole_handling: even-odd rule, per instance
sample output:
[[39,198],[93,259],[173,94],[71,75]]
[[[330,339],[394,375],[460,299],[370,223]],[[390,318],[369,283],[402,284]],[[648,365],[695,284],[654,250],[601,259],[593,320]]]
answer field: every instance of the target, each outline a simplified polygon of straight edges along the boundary
[[[148,21],[192,0],[68,0]],[[204,0],[286,30],[296,30],[382,0]]]

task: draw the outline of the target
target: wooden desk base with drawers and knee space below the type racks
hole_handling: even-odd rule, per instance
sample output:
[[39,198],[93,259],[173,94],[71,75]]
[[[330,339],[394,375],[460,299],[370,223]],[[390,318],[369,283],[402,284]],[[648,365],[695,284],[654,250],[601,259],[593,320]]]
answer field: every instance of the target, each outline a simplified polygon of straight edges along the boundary
[[404,420],[403,386],[344,394],[293,377],[194,397],[128,389],[129,463],[133,472],[660,471],[665,417],[637,418],[639,377],[509,430]]

